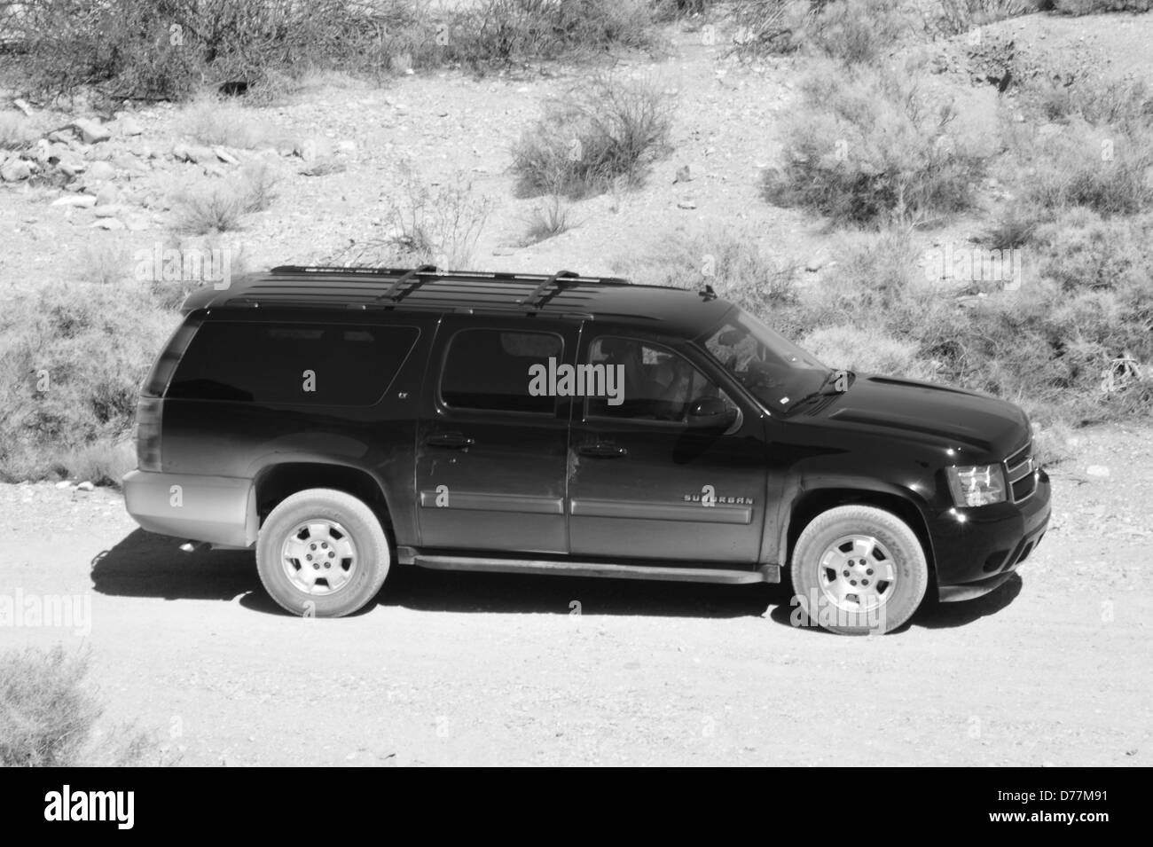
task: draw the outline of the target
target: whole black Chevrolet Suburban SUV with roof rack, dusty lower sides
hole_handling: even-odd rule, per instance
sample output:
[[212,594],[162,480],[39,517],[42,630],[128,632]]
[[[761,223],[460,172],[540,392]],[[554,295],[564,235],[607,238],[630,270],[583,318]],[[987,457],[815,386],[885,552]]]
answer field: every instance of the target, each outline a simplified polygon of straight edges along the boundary
[[277,267],[205,288],[144,386],[128,512],[256,547],[336,617],[393,562],[779,582],[793,620],[904,623],[1009,578],[1049,481],[1012,403],[832,371],[711,289]]

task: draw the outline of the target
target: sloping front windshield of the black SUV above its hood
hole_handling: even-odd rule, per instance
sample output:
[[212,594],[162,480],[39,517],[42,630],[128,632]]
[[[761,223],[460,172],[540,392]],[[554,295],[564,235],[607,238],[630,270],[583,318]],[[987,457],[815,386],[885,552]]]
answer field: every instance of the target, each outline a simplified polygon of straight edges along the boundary
[[752,315],[733,309],[704,338],[725,370],[775,411],[787,411],[820,392],[830,370]]

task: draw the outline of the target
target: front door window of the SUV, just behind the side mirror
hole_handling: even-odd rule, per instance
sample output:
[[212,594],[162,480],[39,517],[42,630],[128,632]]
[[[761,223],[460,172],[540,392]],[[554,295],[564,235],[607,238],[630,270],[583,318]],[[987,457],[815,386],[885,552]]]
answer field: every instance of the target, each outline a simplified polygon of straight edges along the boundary
[[693,402],[732,401],[680,354],[650,341],[605,335],[589,345],[588,363],[605,390],[589,392],[588,415],[684,423]]

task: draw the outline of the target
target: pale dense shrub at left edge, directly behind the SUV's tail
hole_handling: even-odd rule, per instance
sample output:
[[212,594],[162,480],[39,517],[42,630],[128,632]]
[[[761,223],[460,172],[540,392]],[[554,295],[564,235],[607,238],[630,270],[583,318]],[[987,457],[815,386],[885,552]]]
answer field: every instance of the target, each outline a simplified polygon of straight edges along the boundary
[[48,474],[131,429],[140,387],[178,317],[136,285],[52,282],[0,308],[0,476]]

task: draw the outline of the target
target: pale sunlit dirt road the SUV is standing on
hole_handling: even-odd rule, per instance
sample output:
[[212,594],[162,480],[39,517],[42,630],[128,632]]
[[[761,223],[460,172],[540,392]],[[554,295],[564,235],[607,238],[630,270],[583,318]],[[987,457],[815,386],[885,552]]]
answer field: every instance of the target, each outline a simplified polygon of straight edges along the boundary
[[1019,576],[888,636],[790,626],[784,587],[399,566],[363,613],[296,619],[251,553],[40,483],[0,486],[0,593],[88,596],[91,632],[0,645],[90,649],[108,725],[187,765],[1147,765],[1153,429],[1078,438]]

